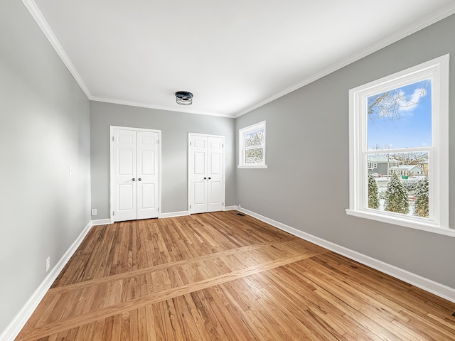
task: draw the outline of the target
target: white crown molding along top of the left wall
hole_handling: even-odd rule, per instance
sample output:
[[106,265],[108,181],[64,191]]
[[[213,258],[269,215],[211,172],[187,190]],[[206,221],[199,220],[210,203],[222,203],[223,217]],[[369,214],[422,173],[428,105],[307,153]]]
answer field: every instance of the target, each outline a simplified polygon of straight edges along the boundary
[[65,50],[63,50],[63,47],[62,45],[60,45],[60,42],[58,41],[57,37],[55,37],[55,34],[50,29],[48,22],[45,20],[41,11],[38,9],[38,6],[36,6],[35,1],[22,0],[22,3],[24,6],[26,6],[26,9],[28,9],[28,12],[31,14],[33,19],[35,19],[36,23],[38,23],[39,28],[41,28],[41,31],[43,31],[45,37],[48,38],[50,45],[53,46],[55,52],[63,61],[63,64],[65,64],[65,66],[70,71],[71,75],[73,75],[77,84],[85,93],[85,96],[87,96],[88,99],[92,99],[92,94],[90,94],[90,90],[88,89],[87,85],[85,85],[85,82],[82,80],[82,77],[80,77],[79,72],[77,72],[75,66],[71,62],[68,55],[66,54]]

